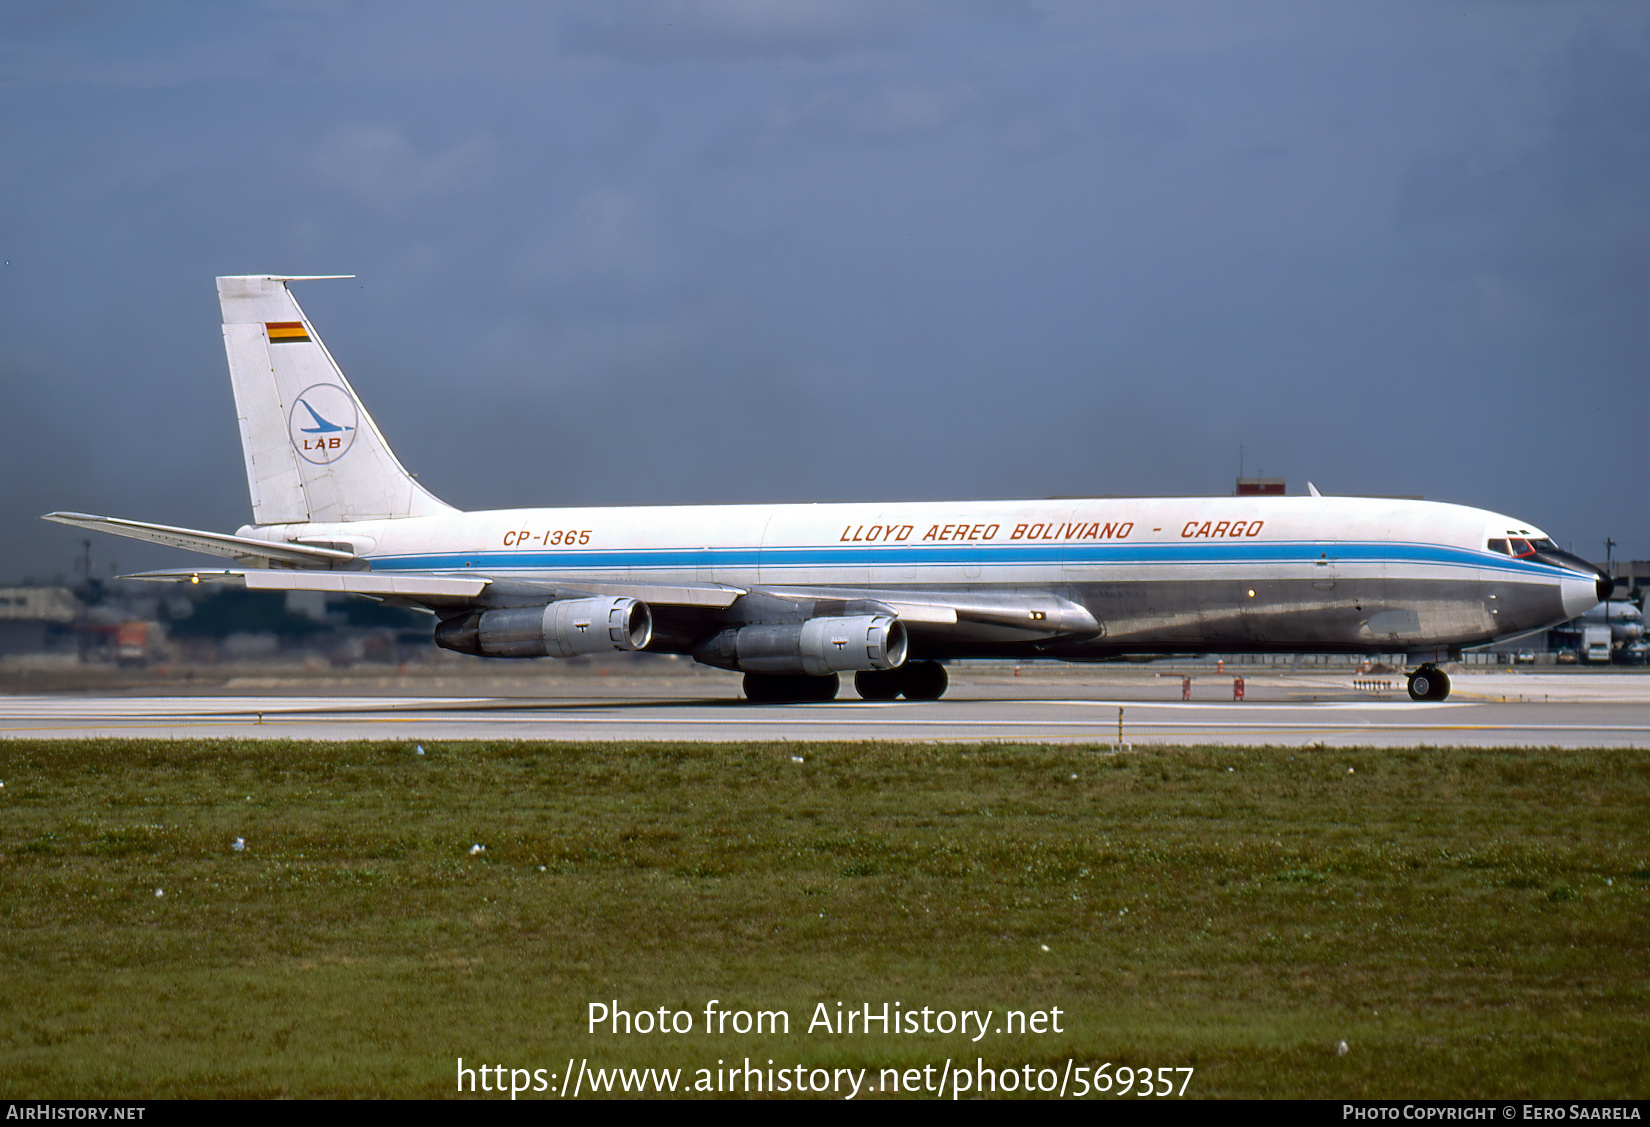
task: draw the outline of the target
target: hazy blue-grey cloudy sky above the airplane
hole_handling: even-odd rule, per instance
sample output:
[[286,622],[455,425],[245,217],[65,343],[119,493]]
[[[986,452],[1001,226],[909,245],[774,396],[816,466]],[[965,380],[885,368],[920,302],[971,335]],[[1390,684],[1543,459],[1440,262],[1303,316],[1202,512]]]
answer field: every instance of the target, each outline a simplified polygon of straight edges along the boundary
[[0,145],[0,581],[251,520],[219,274],[355,274],[460,508],[1241,464],[1650,558],[1642,3],[10,0]]

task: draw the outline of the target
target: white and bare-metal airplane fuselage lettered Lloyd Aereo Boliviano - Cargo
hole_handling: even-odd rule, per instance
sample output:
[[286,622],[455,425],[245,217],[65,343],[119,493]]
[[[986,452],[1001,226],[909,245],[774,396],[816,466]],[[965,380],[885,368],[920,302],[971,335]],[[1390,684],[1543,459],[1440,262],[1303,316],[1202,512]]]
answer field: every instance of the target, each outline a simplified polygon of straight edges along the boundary
[[[1475,645],[1596,602],[1592,574],[1487,546],[1508,531],[1543,538],[1539,530],[1487,510],[1386,498],[521,508],[243,531],[350,545],[375,571],[480,571],[568,587],[1053,592],[1101,624],[1081,642],[1038,640],[1038,650],[1066,657]],[[934,652],[972,652],[965,629],[931,627],[926,640]],[[1016,639],[977,640],[1000,652]]]

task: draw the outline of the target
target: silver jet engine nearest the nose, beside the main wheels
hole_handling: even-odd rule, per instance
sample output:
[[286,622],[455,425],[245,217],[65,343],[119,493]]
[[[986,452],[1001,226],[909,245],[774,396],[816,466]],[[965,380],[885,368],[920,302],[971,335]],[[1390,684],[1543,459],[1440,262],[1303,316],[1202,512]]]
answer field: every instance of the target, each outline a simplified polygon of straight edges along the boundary
[[817,617],[779,625],[723,630],[693,657],[706,665],[746,673],[891,670],[906,660],[906,625],[889,614]]

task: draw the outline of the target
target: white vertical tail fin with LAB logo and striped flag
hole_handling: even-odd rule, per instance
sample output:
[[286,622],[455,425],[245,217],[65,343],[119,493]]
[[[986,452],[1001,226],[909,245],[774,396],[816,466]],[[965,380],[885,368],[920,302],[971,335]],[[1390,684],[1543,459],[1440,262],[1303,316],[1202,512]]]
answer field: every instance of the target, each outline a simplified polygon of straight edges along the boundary
[[219,277],[223,343],[241,421],[252,521],[381,520],[454,512],[412,480],[287,290],[302,279]]

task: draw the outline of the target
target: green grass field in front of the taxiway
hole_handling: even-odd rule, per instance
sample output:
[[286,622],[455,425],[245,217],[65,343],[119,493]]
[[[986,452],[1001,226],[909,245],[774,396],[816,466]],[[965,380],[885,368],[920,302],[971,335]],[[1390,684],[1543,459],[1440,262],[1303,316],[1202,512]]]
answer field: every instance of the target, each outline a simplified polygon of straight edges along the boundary
[[[0,744],[0,1094],[452,1096],[460,1056],[1650,1092],[1645,752],[426,751]],[[612,1000],[696,1031],[589,1033]],[[884,1000],[1064,1033],[805,1030]]]

